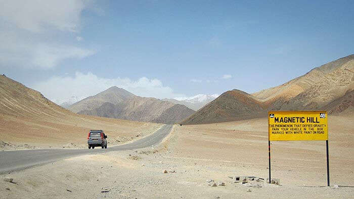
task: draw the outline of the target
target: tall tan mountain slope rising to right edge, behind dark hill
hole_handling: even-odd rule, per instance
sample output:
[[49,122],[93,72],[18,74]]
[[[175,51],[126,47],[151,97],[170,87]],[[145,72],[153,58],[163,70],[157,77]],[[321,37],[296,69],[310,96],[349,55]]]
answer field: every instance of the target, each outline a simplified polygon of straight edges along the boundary
[[[324,103],[319,103],[317,108],[326,104],[333,100],[333,98],[326,98],[324,95],[324,90],[330,88],[328,93],[331,93],[332,88],[335,88],[338,92],[339,96],[343,95],[343,93],[347,90],[348,84],[352,82],[352,68],[354,62],[354,55],[349,55],[344,58],[340,58],[333,62],[327,63],[320,67],[314,68],[313,70],[309,71],[308,73],[297,77],[293,80],[290,80],[280,86],[276,86],[269,89],[264,89],[258,92],[253,93],[252,95],[257,97],[259,101],[264,102],[264,105],[268,107],[270,110],[285,110],[285,109],[302,109],[303,107],[298,107],[298,103],[307,106],[307,104],[311,104],[313,100],[307,99],[301,101],[300,99],[294,100],[293,102],[291,99],[296,97],[300,93],[301,95],[312,95],[310,93],[305,94],[303,92],[307,92],[311,90],[313,93],[316,92],[316,89],[322,90],[322,100],[325,99]],[[322,86],[318,86],[322,84]],[[318,88],[315,88],[315,87]],[[326,87],[326,88],[325,88]],[[315,91],[314,91],[315,90]],[[315,93],[316,94],[316,93]],[[337,94],[334,94],[337,96]],[[319,97],[318,97],[319,99]],[[312,102],[305,102],[305,101],[312,101]],[[315,100],[316,101],[316,100]],[[290,106],[287,106],[290,104]],[[292,105],[295,104],[295,105]],[[313,108],[313,107],[311,107]],[[308,108],[308,109],[311,109]]]

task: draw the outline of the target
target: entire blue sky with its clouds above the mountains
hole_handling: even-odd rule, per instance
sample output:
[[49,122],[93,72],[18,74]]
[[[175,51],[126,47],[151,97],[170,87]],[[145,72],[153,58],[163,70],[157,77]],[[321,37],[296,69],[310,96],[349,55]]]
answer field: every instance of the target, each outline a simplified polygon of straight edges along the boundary
[[282,84],[354,53],[353,1],[5,1],[0,73],[53,101]]

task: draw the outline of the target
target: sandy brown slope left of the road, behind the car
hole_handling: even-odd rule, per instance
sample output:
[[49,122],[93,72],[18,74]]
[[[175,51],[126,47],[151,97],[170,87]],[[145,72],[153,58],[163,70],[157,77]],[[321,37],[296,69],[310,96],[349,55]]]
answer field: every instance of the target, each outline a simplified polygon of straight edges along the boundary
[[[161,125],[74,114],[40,92],[0,75],[0,149],[86,147],[87,131],[103,129],[110,144],[153,132]],[[10,144],[10,143],[11,144]],[[71,144],[72,143],[72,144]]]

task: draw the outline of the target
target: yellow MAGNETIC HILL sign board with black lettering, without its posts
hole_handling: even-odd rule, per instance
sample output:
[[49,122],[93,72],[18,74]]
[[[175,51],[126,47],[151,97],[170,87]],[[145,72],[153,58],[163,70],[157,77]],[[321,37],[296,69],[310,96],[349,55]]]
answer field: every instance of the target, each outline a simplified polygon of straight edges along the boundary
[[269,140],[328,140],[326,111],[269,111]]

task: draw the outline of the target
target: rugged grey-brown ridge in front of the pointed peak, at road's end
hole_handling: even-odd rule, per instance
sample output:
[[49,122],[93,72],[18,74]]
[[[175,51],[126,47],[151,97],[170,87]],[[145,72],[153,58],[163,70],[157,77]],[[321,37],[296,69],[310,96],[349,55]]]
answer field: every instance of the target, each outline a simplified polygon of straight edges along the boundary
[[184,105],[175,106],[171,102],[153,97],[135,96],[116,105],[104,103],[93,110],[80,111],[79,114],[118,118],[133,121],[160,122],[173,124],[194,113]]

